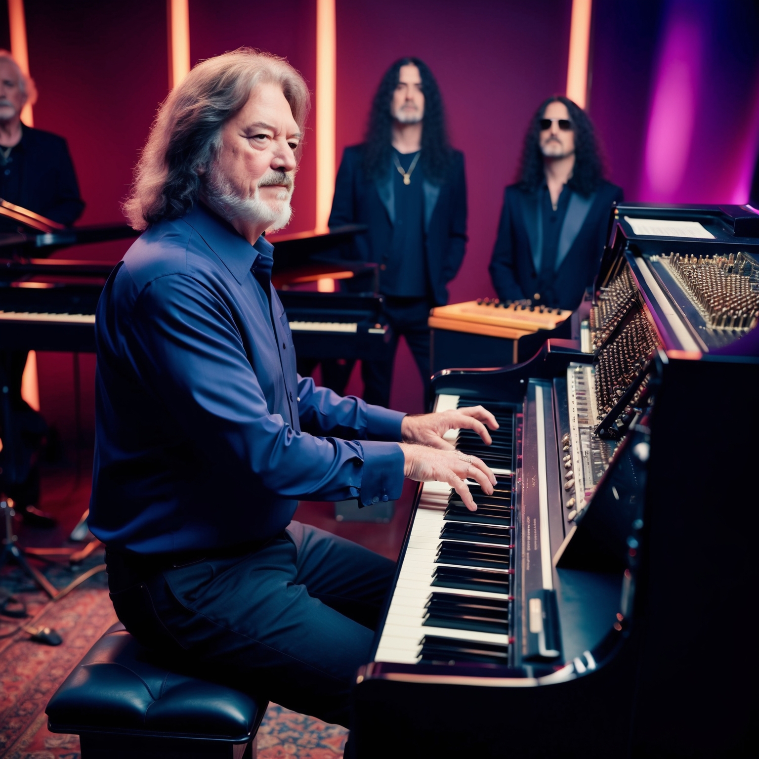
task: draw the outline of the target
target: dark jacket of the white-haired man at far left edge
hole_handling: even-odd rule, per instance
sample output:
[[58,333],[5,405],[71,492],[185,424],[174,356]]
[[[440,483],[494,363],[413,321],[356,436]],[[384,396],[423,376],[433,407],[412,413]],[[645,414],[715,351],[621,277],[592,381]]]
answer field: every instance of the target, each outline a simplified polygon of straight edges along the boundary
[[[84,202],[79,197],[77,175],[66,140],[41,129],[22,129],[20,147],[24,151],[24,170],[19,197],[12,202],[71,226],[81,216]],[[18,222],[11,225],[15,228]]]

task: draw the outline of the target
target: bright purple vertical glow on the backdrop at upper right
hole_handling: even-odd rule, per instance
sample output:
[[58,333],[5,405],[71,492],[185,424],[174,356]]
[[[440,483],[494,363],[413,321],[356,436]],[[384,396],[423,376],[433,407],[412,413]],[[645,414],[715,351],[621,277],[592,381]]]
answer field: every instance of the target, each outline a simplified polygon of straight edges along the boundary
[[644,200],[674,203],[691,153],[701,80],[702,27],[677,3],[669,16],[648,121]]

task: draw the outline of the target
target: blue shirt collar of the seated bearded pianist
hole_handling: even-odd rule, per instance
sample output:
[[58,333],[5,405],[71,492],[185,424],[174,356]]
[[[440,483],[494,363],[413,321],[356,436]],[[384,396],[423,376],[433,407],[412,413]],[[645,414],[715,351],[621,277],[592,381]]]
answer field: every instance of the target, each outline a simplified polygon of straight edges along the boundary
[[202,203],[197,203],[184,216],[184,221],[197,231],[240,284],[250,271],[271,276],[274,246],[263,236],[251,245],[231,224]]

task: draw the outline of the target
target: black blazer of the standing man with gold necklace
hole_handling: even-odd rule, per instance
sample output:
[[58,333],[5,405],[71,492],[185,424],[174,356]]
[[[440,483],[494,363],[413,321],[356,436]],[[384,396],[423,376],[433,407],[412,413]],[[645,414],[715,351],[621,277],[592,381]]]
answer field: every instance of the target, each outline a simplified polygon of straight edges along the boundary
[[[363,146],[345,148],[337,179],[329,226],[366,224],[365,235],[356,235],[345,255],[353,260],[382,264],[389,258],[395,222],[392,164],[387,175],[371,180],[364,174]],[[456,276],[467,243],[467,187],[464,154],[453,151],[453,160],[440,184],[424,180],[424,232],[427,271],[436,305],[448,302],[446,285]]]

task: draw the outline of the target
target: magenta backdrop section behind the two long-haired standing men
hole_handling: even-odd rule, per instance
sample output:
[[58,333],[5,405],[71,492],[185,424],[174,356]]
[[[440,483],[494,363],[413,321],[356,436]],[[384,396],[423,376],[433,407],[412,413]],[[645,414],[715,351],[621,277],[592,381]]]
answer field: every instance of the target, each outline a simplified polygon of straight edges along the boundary
[[[452,143],[465,153],[469,196],[469,244],[450,286],[454,302],[494,294],[487,263],[503,188],[513,181],[534,109],[564,90],[571,11],[571,0],[337,0],[338,160],[345,146],[361,142],[374,91],[396,58],[421,58],[442,90]],[[402,343],[391,405],[422,411],[422,403]]]

